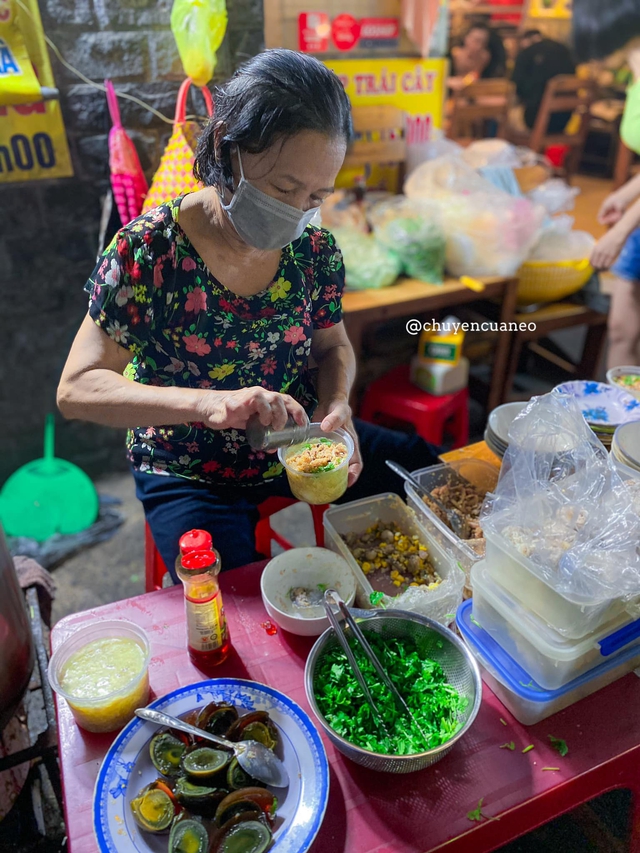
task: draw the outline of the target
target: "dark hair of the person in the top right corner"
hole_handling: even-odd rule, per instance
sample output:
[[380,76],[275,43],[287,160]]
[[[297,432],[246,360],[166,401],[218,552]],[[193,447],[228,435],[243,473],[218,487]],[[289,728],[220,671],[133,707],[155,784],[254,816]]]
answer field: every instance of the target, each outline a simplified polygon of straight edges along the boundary
[[573,48],[580,62],[604,59],[640,36],[640,0],[574,0]]

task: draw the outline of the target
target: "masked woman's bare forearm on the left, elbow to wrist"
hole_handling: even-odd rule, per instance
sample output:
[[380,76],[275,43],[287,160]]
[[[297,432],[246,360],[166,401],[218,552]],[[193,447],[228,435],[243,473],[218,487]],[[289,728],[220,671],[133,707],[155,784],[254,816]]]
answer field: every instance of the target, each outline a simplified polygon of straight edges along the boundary
[[104,426],[170,426],[200,420],[202,396],[218,393],[142,385],[113,370],[95,368],[63,376],[58,407],[66,418]]

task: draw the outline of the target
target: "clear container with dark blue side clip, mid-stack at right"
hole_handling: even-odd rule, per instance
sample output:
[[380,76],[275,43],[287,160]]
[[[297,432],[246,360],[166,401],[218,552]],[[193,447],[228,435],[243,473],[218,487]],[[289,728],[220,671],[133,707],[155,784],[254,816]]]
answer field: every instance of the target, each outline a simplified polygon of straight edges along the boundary
[[473,618],[542,687],[555,690],[640,643],[640,619],[622,616],[581,640],[568,640],[495,581],[483,561],[471,570]]

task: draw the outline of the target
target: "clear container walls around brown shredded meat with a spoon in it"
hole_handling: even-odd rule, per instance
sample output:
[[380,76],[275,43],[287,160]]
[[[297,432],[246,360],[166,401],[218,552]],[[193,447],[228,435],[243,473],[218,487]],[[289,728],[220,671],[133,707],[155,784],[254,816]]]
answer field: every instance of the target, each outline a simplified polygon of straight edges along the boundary
[[[499,474],[499,470],[494,465],[480,459],[445,462],[443,465],[433,465],[431,468],[422,468],[413,472],[413,476],[428,492],[438,486],[447,485],[452,480],[453,482],[466,480],[485,493],[492,492],[498,482]],[[441,547],[460,563],[469,585],[471,567],[484,557],[484,539],[460,539],[444,521],[438,518],[410,483],[405,484],[405,491],[409,506],[415,510],[420,522]]]

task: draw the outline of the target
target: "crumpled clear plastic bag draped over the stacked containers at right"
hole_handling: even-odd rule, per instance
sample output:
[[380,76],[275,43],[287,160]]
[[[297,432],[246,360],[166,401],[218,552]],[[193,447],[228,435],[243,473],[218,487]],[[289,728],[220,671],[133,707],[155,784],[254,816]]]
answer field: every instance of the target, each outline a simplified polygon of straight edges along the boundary
[[640,517],[570,395],[534,397],[513,421],[481,524],[572,601],[640,594]]

